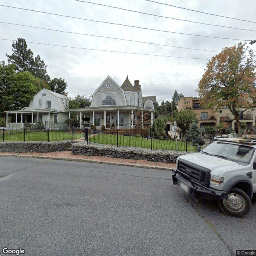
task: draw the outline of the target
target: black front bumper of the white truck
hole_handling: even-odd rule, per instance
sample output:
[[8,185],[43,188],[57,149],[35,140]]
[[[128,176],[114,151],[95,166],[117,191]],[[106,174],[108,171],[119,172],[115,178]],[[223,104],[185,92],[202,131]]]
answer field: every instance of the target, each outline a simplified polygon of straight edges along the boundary
[[207,200],[218,201],[228,196],[228,192],[226,191],[206,188],[200,184],[186,180],[184,177],[180,176],[177,171],[173,171],[172,182],[174,185],[178,185],[184,192],[192,195],[194,198],[204,198]]

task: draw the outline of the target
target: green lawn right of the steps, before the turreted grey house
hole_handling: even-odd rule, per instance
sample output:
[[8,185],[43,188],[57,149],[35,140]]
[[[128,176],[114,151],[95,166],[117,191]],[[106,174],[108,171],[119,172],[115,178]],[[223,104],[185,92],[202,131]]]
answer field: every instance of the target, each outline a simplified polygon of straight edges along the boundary
[[[111,134],[100,134],[89,138],[90,141],[100,144],[117,144],[117,136]],[[151,148],[150,139],[134,136],[118,136],[118,146],[131,146],[140,148]],[[175,140],[156,140],[152,139],[152,149],[176,150]],[[186,143],[178,141],[178,150],[186,151]],[[188,145],[188,151],[196,151],[196,145]]]

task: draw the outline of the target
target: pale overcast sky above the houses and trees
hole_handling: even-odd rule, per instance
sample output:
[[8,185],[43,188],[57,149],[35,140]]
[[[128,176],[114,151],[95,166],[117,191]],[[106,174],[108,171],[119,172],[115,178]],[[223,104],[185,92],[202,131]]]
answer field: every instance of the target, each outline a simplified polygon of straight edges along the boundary
[[[146,0],[89,1],[158,16],[256,30],[256,1],[252,0],[156,0],[156,2],[221,16],[250,20],[254,21],[254,23],[192,12]],[[256,39],[255,31],[222,28],[170,18],[160,18],[152,15],[129,12],[127,10],[78,2],[76,0],[1,0],[0,4],[89,20],[128,25],[106,24],[0,6],[0,22],[80,33],[72,34],[0,23],[0,37],[10,40],[25,38],[28,42],[28,48],[32,50],[34,56],[39,54],[46,65],[48,65],[47,72],[51,79],[55,77],[65,79],[68,84],[66,91],[70,97],[74,97],[77,94],[91,95],[108,75],[120,86],[124,82],[126,75],[128,75],[133,85],[134,80],[140,80],[142,96],[156,95],[158,102],[162,102],[162,100],[170,101],[174,90],[184,94],[184,96],[197,96],[195,89],[198,87],[198,82],[204,74],[206,63],[212,56],[218,54],[218,52],[226,46],[234,46],[234,44],[244,42],[244,40],[248,40],[247,42],[249,43],[250,40]],[[132,28],[129,26],[165,30],[169,32]],[[191,36],[170,32],[234,38],[235,40]],[[81,34],[122,38],[169,46],[129,42]],[[59,46],[34,44],[32,42],[97,50],[63,48]],[[248,45],[256,51],[256,43]],[[200,50],[185,48],[196,48]],[[104,52],[98,50],[163,55],[167,57]],[[6,53],[9,55],[12,54],[12,41],[0,40],[0,60],[7,62]],[[173,58],[171,56],[184,58]]]

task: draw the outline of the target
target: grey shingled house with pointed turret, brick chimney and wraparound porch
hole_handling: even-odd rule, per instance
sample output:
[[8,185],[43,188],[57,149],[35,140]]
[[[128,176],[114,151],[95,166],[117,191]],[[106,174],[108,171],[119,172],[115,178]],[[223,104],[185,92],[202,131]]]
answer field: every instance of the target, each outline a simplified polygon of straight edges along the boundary
[[69,118],[71,113],[77,114],[80,126],[92,124],[97,129],[103,125],[106,129],[112,127],[130,129],[137,122],[140,122],[142,127],[153,124],[155,103],[156,96],[142,97],[139,80],[135,80],[133,86],[127,76],[124,83],[119,86],[107,76],[93,93],[90,107],[66,111],[69,113]]

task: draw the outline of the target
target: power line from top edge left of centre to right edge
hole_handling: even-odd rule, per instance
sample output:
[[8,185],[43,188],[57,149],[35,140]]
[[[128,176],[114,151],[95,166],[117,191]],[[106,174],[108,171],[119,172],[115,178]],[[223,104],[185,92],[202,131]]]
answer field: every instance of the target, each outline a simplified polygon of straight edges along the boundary
[[183,19],[172,18],[172,17],[167,17],[167,16],[160,16],[160,15],[157,15],[157,14],[151,14],[151,13],[147,13],[147,12],[139,12],[139,11],[125,9],[125,8],[120,8],[120,7],[116,7],[116,6],[110,6],[110,5],[106,5],[106,4],[97,4],[97,3],[88,2],[88,1],[82,1],[82,0],[74,0],[74,1],[83,2],[83,3],[87,3],[87,4],[95,4],[95,5],[105,6],[105,7],[109,7],[109,8],[115,8],[115,9],[124,10],[124,11],[127,11],[127,12],[136,12],[136,13],[146,14],[146,15],[160,17],[160,18],[167,18],[167,19],[172,19],[172,20],[191,22],[191,23],[196,23],[196,24],[201,24],[201,25],[216,26],[216,27],[221,27],[221,28],[232,28],[232,29],[237,29],[237,30],[245,30],[245,31],[256,32],[256,30],[252,30],[252,29],[235,28],[235,27],[230,27],[230,26],[222,26],[222,25],[217,25],[217,24],[209,24],[209,23],[197,22],[197,21],[192,21],[192,20],[183,20]]

